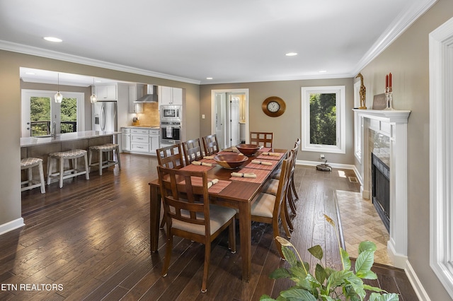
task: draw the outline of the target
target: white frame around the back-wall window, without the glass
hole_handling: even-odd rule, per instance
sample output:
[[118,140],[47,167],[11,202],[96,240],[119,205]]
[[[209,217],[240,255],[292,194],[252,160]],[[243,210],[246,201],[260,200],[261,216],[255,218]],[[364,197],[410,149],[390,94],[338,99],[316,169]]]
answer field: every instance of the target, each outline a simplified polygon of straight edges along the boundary
[[[323,153],[346,153],[346,88],[345,85],[302,87],[302,151]],[[313,93],[335,93],[337,114],[336,146],[310,143],[310,95]]]

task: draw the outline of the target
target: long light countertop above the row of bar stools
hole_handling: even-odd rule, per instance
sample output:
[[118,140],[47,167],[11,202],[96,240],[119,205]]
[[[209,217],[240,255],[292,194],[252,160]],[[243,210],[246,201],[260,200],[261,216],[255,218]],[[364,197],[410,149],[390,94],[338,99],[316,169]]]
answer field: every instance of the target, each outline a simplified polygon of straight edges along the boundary
[[82,139],[98,138],[103,136],[113,136],[121,134],[120,131],[76,131],[74,133],[57,134],[55,137],[40,136],[40,137],[23,137],[21,138],[21,147],[25,146],[40,146],[50,143],[61,143],[67,141],[76,141]]

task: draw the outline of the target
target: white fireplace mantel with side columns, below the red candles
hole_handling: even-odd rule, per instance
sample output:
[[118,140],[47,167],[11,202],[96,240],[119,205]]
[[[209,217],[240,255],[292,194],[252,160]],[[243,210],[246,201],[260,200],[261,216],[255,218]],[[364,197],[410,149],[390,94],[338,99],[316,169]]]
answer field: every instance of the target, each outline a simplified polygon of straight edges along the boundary
[[[355,122],[360,124],[362,196],[369,199],[371,189],[371,154],[369,130],[390,137],[390,240],[387,251],[394,266],[406,268],[408,256],[408,184],[407,123],[409,110],[354,109]],[[357,138],[357,137],[356,137]]]

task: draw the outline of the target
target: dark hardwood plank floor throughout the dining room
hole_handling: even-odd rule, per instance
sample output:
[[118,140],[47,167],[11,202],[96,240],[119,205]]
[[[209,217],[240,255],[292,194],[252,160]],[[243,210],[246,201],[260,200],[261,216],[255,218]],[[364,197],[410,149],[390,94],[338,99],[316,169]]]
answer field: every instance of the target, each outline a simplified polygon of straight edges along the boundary
[[[168,276],[161,277],[164,230],[159,252],[149,252],[147,183],[156,177],[156,158],[122,154],[121,161],[121,171],[110,167],[102,176],[93,171],[89,180],[65,180],[62,189],[51,184],[46,194],[23,191],[25,227],[0,235],[0,300],[258,300],[292,285],[268,278],[285,261],[272,229],[262,223],[252,225],[250,282],[241,281],[240,252],[228,251],[226,232],[212,243],[207,293],[200,293],[201,244],[176,238]],[[311,266],[316,261],[306,249],[314,244],[325,250],[324,264],[340,265],[336,231],[323,213],[338,224],[336,189],[360,189],[348,180],[353,172],[342,171],[346,177],[335,169],[296,167],[298,214],[290,240]],[[377,266],[377,272],[373,285],[401,293],[400,300],[416,300],[402,270]]]

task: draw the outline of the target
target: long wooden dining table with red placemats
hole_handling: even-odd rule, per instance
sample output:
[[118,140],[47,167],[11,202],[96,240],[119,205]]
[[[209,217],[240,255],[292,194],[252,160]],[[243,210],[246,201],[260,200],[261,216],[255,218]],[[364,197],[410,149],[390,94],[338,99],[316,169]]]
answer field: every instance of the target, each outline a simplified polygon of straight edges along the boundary
[[[217,154],[239,152],[227,148]],[[208,181],[219,181],[208,189],[210,203],[238,209],[240,252],[242,258],[242,281],[248,282],[251,276],[251,206],[254,198],[260,193],[265,183],[272,177],[286,158],[288,150],[278,148],[261,148],[254,155],[247,156],[246,162],[235,169],[226,169],[216,164],[212,157],[199,160],[198,164],[189,164],[185,170],[206,170]],[[252,162],[253,161],[253,162]],[[207,163],[202,164],[200,163]],[[261,164],[260,164],[261,163]],[[265,164],[263,164],[265,163]],[[206,166],[207,165],[207,166]],[[209,166],[211,165],[211,166]],[[231,174],[234,173],[235,176]],[[241,174],[253,174],[252,177],[241,177]],[[161,195],[159,178],[149,182],[150,240],[151,252],[157,252],[159,243],[159,219],[161,216]]]

